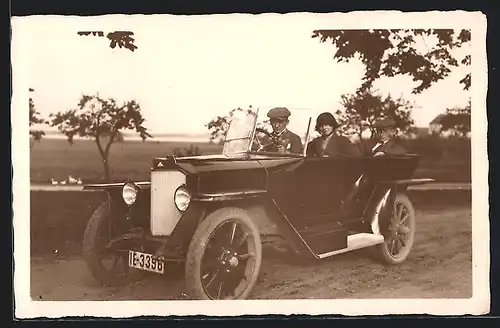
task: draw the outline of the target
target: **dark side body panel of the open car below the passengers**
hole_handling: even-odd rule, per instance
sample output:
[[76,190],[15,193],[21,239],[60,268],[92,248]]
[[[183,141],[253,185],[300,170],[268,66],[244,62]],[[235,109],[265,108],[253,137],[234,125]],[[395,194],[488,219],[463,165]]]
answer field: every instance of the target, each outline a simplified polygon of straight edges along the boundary
[[418,157],[307,157],[281,165],[262,163],[268,170],[270,196],[291,223],[301,227],[330,221],[362,223],[377,185],[411,177]]

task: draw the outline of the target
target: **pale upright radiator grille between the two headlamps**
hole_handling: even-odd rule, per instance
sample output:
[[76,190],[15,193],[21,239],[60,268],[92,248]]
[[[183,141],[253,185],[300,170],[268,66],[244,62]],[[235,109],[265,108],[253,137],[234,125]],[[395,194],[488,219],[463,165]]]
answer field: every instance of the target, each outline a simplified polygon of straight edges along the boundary
[[186,182],[179,171],[151,172],[151,234],[169,236],[182,214],[174,203],[175,190]]

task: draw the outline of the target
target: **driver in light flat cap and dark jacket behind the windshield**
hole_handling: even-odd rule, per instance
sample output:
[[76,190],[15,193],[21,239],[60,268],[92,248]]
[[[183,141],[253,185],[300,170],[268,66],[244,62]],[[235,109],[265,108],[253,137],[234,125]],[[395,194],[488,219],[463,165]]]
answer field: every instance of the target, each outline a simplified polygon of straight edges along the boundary
[[279,153],[302,153],[302,141],[300,137],[287,129],[291,113],[285,107],[272,108],[268,113],[269,121],[273,128],[271,140],[268,136],[264,136],[262,144],[268,144],[263,150]]

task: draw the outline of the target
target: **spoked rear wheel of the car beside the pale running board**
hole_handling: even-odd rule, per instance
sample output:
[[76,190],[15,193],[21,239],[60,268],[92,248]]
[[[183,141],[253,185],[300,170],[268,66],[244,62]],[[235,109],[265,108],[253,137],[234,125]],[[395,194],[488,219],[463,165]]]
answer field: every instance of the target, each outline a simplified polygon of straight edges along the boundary
[[375,246],[383,262],[399,264],[407,259],[415,240],[415,221],[412,202],[406,195],[397,194],[391,221],[384,234],[385,241]]

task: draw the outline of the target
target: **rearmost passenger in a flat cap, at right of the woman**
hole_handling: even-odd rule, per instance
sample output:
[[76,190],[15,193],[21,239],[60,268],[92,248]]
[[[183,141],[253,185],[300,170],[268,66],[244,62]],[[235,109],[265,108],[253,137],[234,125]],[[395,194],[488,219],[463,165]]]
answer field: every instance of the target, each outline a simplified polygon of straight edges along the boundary
[[377,143],[369,150],[371,156],[404,155],[406,150],[394,139],[396,122],[390,118],[378,119],[373,127],[377,131]]

